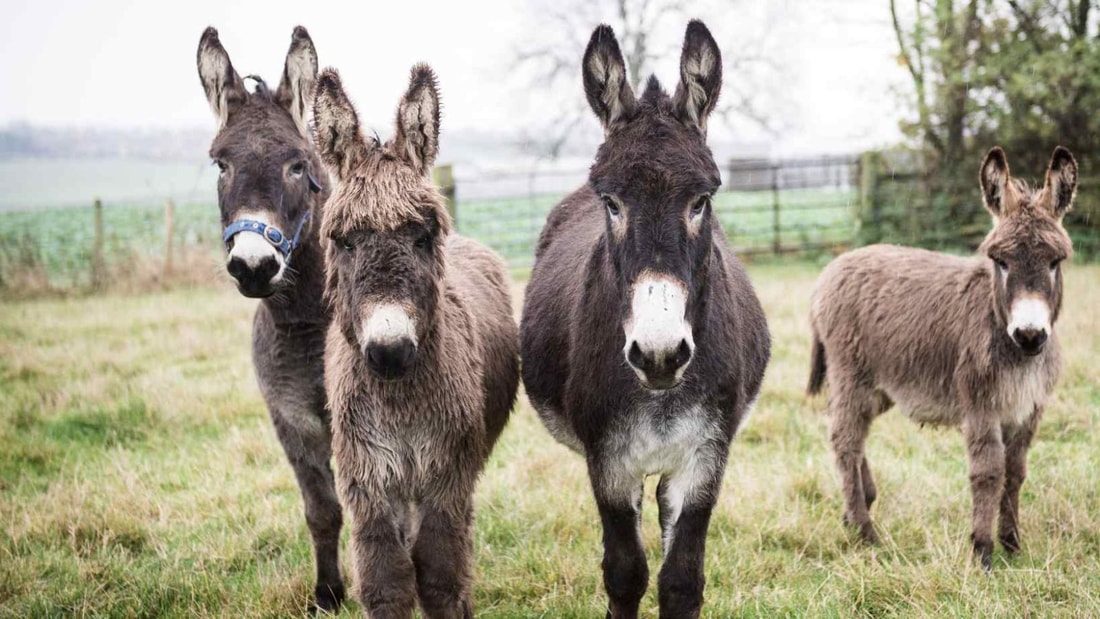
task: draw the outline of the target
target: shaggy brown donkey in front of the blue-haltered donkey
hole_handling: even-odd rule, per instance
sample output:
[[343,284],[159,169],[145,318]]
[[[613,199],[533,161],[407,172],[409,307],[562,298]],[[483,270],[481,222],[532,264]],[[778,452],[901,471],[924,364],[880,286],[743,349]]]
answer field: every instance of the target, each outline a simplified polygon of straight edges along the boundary
[[429,174],[436,76],[413,68],[386,144],[364,139],[328,69],[316,139],[337,185],[324,207],[333,319],[324,377],[359,599],[375,619],[471,617],[473,491],[519,383],[509,283],[451,232]]

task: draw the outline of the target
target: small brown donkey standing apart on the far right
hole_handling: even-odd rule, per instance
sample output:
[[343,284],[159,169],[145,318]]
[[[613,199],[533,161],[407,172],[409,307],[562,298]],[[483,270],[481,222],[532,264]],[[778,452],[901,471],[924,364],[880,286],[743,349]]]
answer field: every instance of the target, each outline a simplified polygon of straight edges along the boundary
[[[878,537],[877,488],[864,454],[871,420],[894,402],[919,423],[961,425],[974,498],[971,540],[992,567],[1000,541],[1020,550],[1020,487],[1062,358],[1053,330],[1062,262],[1072,253],[1062,218],[1077,189],[1077,162],[1058,146],[1046,183],[1009,176],[992,148],[979,174],[993,229],[974,257],[872,245],[833,261],[813,292],[809,391],[832,393],[829,436],[840,471],[845,521]],[[827,364],[826,364],[827,360]]]

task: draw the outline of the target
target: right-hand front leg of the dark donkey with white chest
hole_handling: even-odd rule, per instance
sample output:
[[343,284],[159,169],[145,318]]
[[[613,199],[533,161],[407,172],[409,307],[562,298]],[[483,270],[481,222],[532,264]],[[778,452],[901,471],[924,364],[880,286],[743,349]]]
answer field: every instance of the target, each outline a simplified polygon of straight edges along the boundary
[[664,561],[657,575],[661,617],[698,617],[706,578],[706,531],[722,484],[725,461],[693,461],[657,486]]

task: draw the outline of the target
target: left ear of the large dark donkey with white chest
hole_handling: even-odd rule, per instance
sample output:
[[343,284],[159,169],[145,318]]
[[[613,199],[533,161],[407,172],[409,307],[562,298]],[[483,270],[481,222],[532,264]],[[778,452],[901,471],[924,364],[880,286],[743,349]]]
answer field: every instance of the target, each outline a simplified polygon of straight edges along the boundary
[[612,26],[601,24],[592,33],[581,62],[581,71],[588,106],[604,125],[604,134],[609,134],[616,124],[634,112],[636,101]]

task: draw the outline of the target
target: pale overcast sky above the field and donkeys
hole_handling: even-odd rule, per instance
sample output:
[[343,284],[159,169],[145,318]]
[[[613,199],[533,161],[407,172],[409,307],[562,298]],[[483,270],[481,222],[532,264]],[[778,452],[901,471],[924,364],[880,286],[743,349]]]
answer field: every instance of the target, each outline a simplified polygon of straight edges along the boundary
[[[560,0],[568,1],[568,0]],[[721,46],[745,29],[781,38],[784,132],[777,153],[837,152],[899,136],[904,86],[887,3],[880,0],[702,0],[695,14]],[[212,115],[195,68],[202,29],[218,27],[242,75],[277,80],[295,24],[307,26],[321,66],[340,69],[361,118],[388,133],[409,67],[430,63],[440,77],[448,129],[516,130],[537,118],[540,98],[508,75],[513,51],[539,29],[538,4],[524,1],[140,2],[3,0],[0,123],[42,125],[201,126]],[[308,7],[308,8],[307,8]],[[695,7],[692,5],[692,9]],[[714,16],[719,15],[719,16]],[[592,24],[595,26],[596,24]],[[682,25],[678,26],[682,33]],[[681,34],[682,36],[682,34]],[[582,36],[586,38],[586,34]],[[576,51],[578,98],[580,57]],[[676,58],[660,65],[666,84]],[[668,74],[668,75],[666,75]],[[726,79],[737,79],[726,75]],[[593,125],[595,120],[591,121]],[[751,133],[751,132],[749,132]]]

